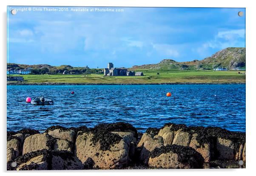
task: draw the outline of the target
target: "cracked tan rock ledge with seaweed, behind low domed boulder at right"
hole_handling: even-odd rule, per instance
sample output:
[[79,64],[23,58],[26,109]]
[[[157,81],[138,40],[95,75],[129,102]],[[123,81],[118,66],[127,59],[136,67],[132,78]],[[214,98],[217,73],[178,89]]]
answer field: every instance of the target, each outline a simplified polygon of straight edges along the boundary
[[[165,124],[154,135],[152,128],[142,136],[138,147],[142,147],[140,159],[145,163],[149,153],[156,147],[167,145],[190,146],[199,152],[205,162],[216,159],[243,160],[245,162],[245,133],[230,132],[217,127],[188,127],[183,124]],[[146,144],[146,145],[145,145]]]

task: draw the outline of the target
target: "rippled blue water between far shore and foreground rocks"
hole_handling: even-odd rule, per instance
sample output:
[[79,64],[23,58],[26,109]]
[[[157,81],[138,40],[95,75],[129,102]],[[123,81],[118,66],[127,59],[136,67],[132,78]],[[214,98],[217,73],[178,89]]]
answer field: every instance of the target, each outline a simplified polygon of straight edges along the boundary
[[[26,103],[27,96],[45,96],[54,105],[34,106]],[[117,121],[139,131],[171,122],[245,132],[245,85],[7,86],[7,130]]]

